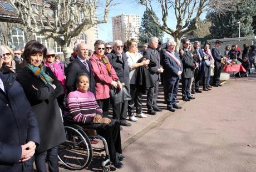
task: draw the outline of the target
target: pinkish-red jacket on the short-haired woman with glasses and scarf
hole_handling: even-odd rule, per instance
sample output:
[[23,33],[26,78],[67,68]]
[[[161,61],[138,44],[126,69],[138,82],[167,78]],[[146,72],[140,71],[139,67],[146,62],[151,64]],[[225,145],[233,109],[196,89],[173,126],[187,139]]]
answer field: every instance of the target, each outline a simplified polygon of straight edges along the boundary
[[[104,55],[106,57],[106,55]],[[109,59],[106,57],[107,62]],[[107,71],[106,64],[101,62],[97,54],[93,53],[90,57],[92,73],[95,78],[95,90],[96,90],[96,100],[107,99],[110,97],[110,88],[112,80],[119,80],[116,75],[115,69],[111,65],[111,76]],[[109,63],[110,64],[110,63]]]

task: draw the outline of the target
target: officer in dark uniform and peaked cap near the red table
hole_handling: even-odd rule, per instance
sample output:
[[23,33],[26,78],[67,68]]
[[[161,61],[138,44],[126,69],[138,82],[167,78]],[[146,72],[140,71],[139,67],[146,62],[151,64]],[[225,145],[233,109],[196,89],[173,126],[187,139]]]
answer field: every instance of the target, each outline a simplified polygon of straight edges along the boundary
[[220,82],[220,73],[222,70],[221,59],[223,58],[223,56],[220,54],[220,50],[219,50],[221,43],[223,43],[223,42],[216,40],[215,47],[213,47],[213,49],[211,49],[211,54],[213,55],[213,59],[214,59],[214,74],[213,74],[213,86],[214,87],[222,86],[219,83]]

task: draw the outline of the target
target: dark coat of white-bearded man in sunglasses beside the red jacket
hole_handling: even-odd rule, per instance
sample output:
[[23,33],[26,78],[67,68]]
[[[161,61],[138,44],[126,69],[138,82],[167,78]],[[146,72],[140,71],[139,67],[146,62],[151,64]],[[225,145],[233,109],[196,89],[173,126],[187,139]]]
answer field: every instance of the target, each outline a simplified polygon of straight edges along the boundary
[[112,50],[111,53],[107,54],[109,62],[116,71],[116,75],[121,83],[125,83],[126,88],[130,91],[130,69],[127,62],[128,57],[122,52],[122,60],[119,59],[118,55]]

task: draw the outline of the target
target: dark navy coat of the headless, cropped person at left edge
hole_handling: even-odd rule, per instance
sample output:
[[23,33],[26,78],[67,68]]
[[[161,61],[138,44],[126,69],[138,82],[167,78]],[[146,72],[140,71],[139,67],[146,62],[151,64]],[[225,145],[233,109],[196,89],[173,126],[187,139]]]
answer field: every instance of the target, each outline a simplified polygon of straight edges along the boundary
[[39,130],[16,74],[0,72],[5,92],[0,89],[0,171],[22,171],[21,145],[28,141],[39,144]]

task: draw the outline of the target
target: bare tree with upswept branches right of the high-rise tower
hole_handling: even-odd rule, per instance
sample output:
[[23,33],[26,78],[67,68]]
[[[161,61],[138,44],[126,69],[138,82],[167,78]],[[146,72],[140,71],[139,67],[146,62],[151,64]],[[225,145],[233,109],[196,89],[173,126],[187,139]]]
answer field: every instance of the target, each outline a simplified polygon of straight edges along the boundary
[[[157,0],[157,2],[140,0],[139,2],[146,7],[146,11],[149,12],[154,23],[164,32],[174,37],[174,41],[178,45],[177,48],[179,48],[181,37],[198,28],[200,16],[206,9],[222,11],[229,8],[229,6],[223,7],[223,3],[221,3],[223,0]],[[155,10],[153,7],[156,7],[155,3],[161,7],[161,22],[153,15]],[[214,6],[215,3],[218,3],[218,7]],[[226,0],[224,4],[234,4],[234,1]],[[171,10],[174,11],[171,15],[176,18],[177,22],[175,29],[170,28],[168,24],[170,22],[168,21],[168,14],[170,14]],[[191,21],[193,21],[193,24],[189,25]]]

